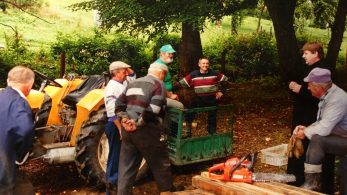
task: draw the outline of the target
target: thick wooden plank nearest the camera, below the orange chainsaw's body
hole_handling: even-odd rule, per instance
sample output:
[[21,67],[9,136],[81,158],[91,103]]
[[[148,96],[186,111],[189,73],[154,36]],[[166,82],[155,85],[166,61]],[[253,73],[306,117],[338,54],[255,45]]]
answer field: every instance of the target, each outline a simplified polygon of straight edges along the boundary
[[281,195],[281,193],[261,188],[255,185],[238,182],[222,182],[212,180],[200,175],[194,176],[192,179],[194,187],[213,193],[215,195]]

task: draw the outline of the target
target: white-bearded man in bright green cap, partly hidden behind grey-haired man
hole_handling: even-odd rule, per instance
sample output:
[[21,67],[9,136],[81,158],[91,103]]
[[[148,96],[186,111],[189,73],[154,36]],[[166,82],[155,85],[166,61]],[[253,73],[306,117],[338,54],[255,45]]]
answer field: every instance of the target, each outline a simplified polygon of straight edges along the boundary
[[[176,51],[174,50],[174,48],[172,48],[170,44],[164,45],[160,48],[160,56],[155,62],[159,64],[168,65],[173,61],[175,52]],[[184,108],[183,104],[178,101],[178,95],[172,93],[171,74],[169,71],[167,72],[166,77],[164,79],[164,86],[167,91],[166,92],[167,106],[171,108],[183,109]]]

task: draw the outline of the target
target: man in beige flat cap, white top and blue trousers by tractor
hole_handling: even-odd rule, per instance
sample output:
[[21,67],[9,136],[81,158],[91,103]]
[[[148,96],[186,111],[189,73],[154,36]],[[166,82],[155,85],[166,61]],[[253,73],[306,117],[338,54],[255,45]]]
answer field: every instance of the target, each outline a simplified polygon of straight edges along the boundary
[[116,194],[121,147],[121,125],[115,114],[115,102],[128,85],[128,81],[135,80],[136,75],[129,64],[121,61],[112,62],[109,66],[109,71],[112,78],[107,83],[104,95],[108,119],[105,133],[109,145],[106,168],[106,194]]

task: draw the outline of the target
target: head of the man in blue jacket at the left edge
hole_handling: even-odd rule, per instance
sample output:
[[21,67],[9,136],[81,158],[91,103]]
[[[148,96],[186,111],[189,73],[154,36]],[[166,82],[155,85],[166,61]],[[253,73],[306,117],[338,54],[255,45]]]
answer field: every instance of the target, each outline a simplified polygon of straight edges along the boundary
[[7,85],[15,87],[28,96],[35,80],[34,72],[25,66],[15,66],[7,75]]

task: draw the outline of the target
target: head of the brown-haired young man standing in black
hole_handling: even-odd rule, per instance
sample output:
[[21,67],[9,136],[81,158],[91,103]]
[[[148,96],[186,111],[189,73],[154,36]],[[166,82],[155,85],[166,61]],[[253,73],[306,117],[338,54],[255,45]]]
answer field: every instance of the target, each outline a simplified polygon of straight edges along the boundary
[[323,47],[318,42],[307,42],[301,50],[303,52],[302,57],[308,65],[312,65],[324,58]]

